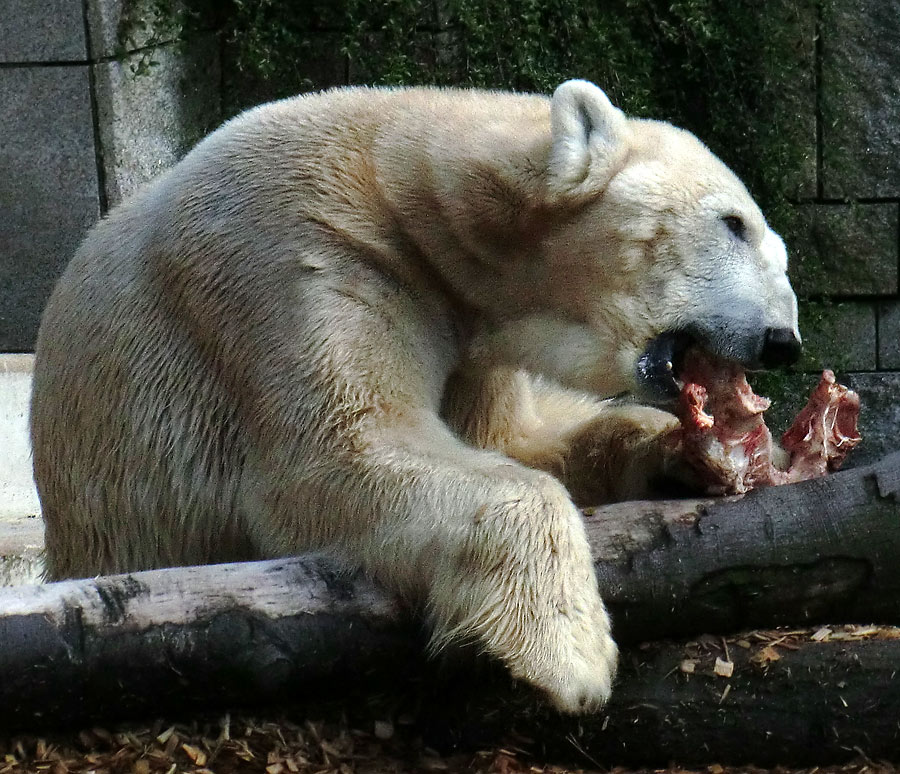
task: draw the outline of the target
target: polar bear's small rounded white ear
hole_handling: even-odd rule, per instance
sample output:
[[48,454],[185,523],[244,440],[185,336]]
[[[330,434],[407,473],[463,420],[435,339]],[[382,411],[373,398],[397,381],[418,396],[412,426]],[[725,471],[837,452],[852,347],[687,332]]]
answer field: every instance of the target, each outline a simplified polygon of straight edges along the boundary
[[602,190],[621,162],[630,130],[625,114],[588,81],[566,81],[550,104],[550,188],[561,195]]

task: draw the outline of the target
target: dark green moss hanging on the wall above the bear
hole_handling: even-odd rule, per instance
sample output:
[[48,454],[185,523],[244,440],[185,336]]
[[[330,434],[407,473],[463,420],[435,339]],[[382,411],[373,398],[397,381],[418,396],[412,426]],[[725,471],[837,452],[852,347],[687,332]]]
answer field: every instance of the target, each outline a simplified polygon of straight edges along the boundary
[[[186,13],[157,2],[178,23],[210,23],[207,0]],[[331,85],[323,56],[344,58],[358,83],[547,92],[588,78],[629,113],[697,133],[789,230],[784,197],[815,171],[816,3],[227,0],[214,24],[265,98]],[[238,93],[235,110],[253,101]]]

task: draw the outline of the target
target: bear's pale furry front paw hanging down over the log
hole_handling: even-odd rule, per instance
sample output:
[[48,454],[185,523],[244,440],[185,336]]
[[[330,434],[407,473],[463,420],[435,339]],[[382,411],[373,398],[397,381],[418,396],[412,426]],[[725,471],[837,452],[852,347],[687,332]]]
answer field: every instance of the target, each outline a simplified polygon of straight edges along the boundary
[[617,649],[581,513],[559,482],[536,478],[479,509],[439,572],[433,643],[475,638],[561,711],[587,712],[609,698]]

